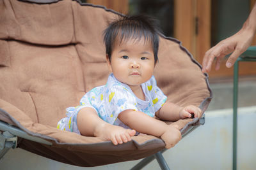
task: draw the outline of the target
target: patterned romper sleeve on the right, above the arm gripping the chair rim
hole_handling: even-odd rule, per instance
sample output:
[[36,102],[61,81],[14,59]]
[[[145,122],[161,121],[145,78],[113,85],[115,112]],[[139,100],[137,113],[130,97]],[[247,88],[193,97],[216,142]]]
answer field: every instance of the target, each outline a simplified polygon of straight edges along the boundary
[[157,87],[156,78],[154,76],[150,79],[147,88],[150,91],[150,96],[156,113],[166,102],[167,96],[165,96],[162,90]]

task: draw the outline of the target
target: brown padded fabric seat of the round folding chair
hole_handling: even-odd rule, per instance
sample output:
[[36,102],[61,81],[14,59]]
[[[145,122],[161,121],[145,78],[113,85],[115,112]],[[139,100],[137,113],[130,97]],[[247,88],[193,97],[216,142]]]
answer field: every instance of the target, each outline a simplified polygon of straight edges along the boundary
[[[77,166],[140,159],[164,148],[161,139],[149,135],[114,146],[56,129],[67,107],[77,106],[85,92],[106,83],[102,31],[118,17],[115,12],[70,0],[3,0],[0,9],[0,120],[53,143],[20,139],[20,148]],[[155,77],[173,103],[207,108],[207,78],[179,41],[161,38]],[[182,129],[191,121],[175,124]]]

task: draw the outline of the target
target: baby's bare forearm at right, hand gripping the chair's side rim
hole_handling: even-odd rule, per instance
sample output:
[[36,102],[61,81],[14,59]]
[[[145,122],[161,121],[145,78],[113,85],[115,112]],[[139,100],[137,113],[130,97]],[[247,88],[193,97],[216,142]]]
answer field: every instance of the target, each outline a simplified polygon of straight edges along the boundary
[[180,118],[190,118],[192,114],[194,117],[199,117],[201,113],[200,108],[189,105],[186,107],[180,107],[177,104],[166,102],[163,106],[156,112],[156,116],[169,121],[177,121]]

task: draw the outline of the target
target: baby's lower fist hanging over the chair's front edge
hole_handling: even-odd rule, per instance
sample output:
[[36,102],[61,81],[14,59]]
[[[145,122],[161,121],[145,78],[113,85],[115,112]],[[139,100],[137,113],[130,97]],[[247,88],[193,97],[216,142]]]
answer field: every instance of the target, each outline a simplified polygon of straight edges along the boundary
[[163,139],[165,143],[165,148],[169,149],[175,146],[181,139],[180,131],[173,127],[172,125],[168,125],[168,129],[162,134],[161,139]]

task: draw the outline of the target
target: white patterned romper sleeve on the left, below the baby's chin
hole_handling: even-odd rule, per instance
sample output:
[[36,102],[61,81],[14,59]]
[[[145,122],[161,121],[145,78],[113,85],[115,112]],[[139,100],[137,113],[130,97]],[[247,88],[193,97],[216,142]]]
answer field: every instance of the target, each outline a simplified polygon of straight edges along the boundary
[[107,115],[104,115],[104,117],[106,116],[106,122],[109,124],[113,124],[119,113],[122,111],[138,111],[134,94],[122,85],[116,85],[108,90],[106,93],[105,104]]

